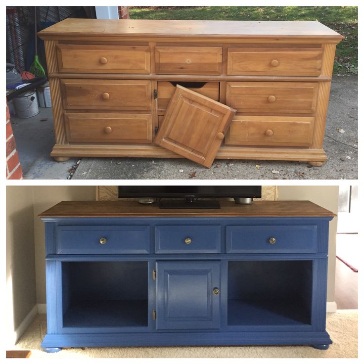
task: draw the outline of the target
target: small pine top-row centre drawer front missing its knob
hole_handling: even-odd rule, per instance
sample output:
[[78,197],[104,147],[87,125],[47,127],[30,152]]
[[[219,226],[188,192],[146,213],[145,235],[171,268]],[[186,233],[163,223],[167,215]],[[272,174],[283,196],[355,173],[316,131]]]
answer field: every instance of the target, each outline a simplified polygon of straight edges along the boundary
[[155,72],[177,75],[220,75],[222,47],[155,47]]

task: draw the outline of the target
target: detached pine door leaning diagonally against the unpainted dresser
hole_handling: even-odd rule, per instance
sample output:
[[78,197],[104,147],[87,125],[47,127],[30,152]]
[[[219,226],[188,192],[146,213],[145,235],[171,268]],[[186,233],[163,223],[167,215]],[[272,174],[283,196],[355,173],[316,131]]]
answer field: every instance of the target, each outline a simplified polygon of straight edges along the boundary
[[180,85],[154,142],[210,168],[235,110]]

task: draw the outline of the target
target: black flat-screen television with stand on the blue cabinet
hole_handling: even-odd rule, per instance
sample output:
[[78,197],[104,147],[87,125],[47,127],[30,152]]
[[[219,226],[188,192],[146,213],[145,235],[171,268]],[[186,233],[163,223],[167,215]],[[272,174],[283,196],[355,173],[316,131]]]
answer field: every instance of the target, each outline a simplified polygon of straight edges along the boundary
[[220,208],[219,201],[214,198],[230,197],[235,202],[252,201],[253,198],[262,197],[262,186],[119,186],[118,196],[156,198],[160,208]]

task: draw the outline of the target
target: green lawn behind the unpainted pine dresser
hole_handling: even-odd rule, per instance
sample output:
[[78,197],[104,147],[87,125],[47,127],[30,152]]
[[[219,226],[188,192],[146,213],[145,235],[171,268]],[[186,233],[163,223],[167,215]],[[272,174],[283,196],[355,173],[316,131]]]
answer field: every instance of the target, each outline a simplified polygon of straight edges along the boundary
[[345,37],[337,46],[335,74],[358,73],[357,6],[130,6],[132,19],[318,20]]

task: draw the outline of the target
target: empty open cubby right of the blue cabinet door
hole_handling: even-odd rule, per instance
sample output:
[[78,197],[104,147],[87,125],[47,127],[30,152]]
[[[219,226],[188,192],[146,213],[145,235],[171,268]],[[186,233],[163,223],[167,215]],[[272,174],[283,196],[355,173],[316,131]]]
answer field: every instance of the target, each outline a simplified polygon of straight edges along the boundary
[[228,262],[228,324],[310,324],[312,274],[312,261]]

